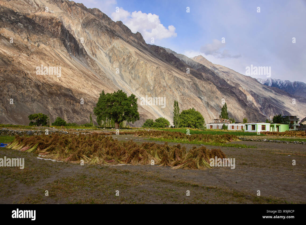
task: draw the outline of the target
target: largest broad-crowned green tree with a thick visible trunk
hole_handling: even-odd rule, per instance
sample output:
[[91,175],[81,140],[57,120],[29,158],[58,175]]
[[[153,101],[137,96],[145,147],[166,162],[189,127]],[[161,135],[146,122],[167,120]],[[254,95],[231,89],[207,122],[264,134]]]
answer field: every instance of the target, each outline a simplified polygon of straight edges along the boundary
[[134,123],[139,120],[137,98],[135,94],[131,94],[128,97],[122,90],[106,94],[103,90],[96,107],[94,107],[94,115],[98,121],[113,119],[115,121],[115,129],[124,120]]

